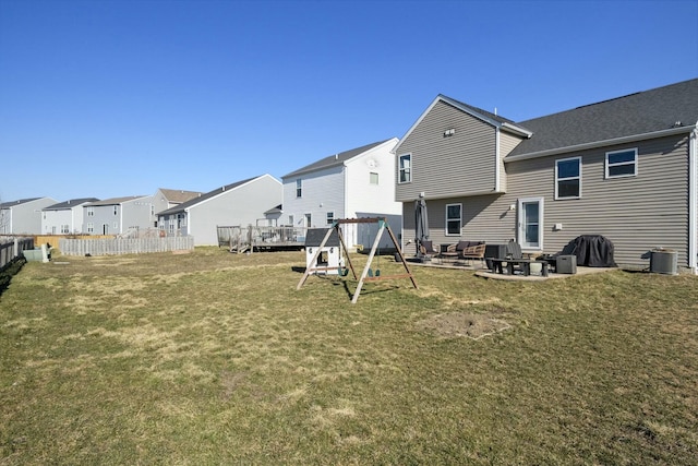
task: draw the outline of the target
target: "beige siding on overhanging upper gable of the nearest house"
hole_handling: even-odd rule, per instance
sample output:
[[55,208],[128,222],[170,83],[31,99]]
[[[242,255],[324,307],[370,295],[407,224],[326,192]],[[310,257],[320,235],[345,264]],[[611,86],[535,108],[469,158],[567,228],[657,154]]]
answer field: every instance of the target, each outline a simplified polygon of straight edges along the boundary
[[[455,129],[453,136],[444,131]],[[492,192],[495,188],[495,128],[438,101],[401,142],[398,153],[412,154],[412,181],[397,183],[396,200],[411,201]]]

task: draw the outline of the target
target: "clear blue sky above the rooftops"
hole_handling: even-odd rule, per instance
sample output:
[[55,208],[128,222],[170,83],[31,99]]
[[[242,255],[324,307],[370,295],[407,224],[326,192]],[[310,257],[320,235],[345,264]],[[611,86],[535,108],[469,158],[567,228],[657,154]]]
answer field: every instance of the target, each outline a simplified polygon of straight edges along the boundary
[[698,0],[0,0],[0,200],[280,179],[438,94],[522,121],[694,79],[697,24]]

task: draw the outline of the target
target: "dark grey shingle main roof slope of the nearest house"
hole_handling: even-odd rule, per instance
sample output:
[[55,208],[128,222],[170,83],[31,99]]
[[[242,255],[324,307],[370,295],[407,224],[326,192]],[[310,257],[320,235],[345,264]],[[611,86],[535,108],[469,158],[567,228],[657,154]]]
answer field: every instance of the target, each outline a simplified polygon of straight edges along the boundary
[[634,136],[698,122],[698,79],[585,105],[518,124],[533,132],[510,156]]

